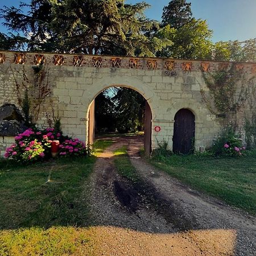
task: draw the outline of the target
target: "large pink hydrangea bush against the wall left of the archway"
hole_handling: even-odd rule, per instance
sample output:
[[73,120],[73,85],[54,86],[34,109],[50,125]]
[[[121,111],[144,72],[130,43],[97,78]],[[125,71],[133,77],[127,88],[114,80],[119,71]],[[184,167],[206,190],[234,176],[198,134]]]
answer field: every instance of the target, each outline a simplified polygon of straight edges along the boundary
[[59,141],[60,156],[79,156],[89,154],[89,149],[79,139],[64,137],[53,128],[44,130],[27,129],[15,137],[15,143],[7,148],[5,158],[18,162],[35,162],[51,158],[51,143]]

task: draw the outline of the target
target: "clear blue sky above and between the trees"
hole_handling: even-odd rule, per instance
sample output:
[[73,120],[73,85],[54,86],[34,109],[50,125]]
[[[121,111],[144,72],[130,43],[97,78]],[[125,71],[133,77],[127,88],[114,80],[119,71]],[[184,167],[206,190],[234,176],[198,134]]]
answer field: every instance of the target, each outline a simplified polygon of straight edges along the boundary
[[[22,0],[0,0],[0,7],[18,6]],[[161,20],[163,7],[170,0],[144,0],[151,5],[146,11],[148,18]],[[23,2],[30,2],[23,0]],[[127,0],[127,3],[142,2],[142,0]],[[193,16],[206,19],[209,28],[213,30],[213,42],[228,40],[246,40],[256,38],[256,0],[190,0]],[[1,32],[6,32],[0,26]]]

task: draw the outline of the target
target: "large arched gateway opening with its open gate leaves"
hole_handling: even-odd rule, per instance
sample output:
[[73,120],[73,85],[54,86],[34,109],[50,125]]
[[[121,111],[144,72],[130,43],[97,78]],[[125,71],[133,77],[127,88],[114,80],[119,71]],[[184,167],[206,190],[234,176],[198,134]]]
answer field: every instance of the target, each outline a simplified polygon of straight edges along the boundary
[[89,106],[88,144],[97,134],[143,134],[144,152],[151,153],[151,108],[136,90],[111,87],[102,90]]

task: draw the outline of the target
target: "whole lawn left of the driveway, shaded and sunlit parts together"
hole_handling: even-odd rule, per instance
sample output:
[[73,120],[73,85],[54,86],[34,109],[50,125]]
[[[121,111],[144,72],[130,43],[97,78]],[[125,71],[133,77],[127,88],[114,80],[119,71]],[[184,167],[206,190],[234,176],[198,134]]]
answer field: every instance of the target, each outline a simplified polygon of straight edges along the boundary
[[[96,155],[110,142],[96,142]],[[95,156],[22,166],[0,159],[0,255],[90,255],[85,185]]]

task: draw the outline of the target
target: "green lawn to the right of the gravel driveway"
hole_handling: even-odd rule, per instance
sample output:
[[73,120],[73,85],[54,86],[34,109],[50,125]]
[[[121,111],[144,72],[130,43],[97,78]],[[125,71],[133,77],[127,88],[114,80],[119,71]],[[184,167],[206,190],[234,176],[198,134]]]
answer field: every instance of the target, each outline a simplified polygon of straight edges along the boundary
[[172,155],[150,162],[192,188],[256,215],[256,151],[241,158]]

